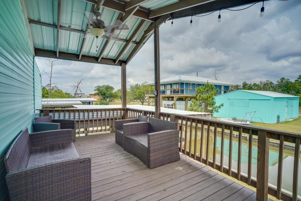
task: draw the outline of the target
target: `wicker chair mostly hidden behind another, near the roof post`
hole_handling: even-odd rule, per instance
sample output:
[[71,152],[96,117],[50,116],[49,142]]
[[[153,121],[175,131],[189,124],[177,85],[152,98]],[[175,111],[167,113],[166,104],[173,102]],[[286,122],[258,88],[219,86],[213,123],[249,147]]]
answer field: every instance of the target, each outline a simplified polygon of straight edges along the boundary
[[116,120],[115,125],[115,142],[123,147],[123,124],[133,123],[133,122],[147,122],[147,116],[138,115],[138,119],[125,119],[125,120]]

